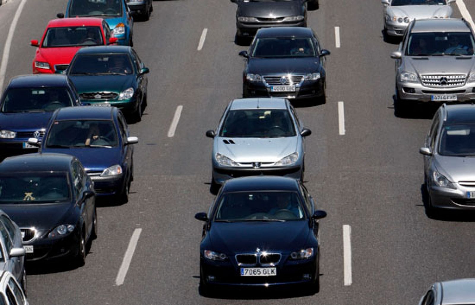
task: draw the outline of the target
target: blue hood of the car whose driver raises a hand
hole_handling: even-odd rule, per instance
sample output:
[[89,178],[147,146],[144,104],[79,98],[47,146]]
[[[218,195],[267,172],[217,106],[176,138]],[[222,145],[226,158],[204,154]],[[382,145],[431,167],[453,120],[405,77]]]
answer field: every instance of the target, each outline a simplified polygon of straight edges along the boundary
[[86,172],[102,172],[109,166],[122,164],[122,153],[119,148],[42,148],[41,152],[73,155],[81,161]]

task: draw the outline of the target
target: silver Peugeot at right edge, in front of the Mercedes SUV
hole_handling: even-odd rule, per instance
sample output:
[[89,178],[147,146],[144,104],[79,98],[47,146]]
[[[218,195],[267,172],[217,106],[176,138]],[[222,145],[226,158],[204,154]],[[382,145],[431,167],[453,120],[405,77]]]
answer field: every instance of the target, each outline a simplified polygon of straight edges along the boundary
[[475,105],[443,105],[434,115],[424,147],[426,212],[475,210]]

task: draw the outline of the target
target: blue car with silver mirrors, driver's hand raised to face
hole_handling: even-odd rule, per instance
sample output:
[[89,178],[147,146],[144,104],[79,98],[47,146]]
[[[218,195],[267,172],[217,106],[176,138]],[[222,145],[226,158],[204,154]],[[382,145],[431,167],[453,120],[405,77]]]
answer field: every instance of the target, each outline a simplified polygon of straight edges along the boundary
[[133,180],[131,144],[138,142],[137,137],[129,135],[119,109],[97,106],[58,109],[43,141],[28,141],[39,146],[41,153],[75,156],[94,181],[97,195],[114,195],[120,202],[128,201]]

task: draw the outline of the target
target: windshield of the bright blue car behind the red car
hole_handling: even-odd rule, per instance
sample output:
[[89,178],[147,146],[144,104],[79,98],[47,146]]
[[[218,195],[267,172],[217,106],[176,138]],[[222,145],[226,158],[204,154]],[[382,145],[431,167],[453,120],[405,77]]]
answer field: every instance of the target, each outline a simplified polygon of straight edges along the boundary
[[68,17],[122,16],[123,0],[71,0]]

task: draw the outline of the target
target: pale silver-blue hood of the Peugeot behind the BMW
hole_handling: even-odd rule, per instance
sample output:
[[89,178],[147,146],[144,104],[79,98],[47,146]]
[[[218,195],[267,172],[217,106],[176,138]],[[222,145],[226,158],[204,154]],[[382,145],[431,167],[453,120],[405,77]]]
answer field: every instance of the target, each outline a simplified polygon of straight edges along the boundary
[[[225,144],[223,140],[235,144]],[[215,142],[215,153],[221,153],[236,162],[277,162],[297,152],[298,137],[287,138],[221,138]]]

